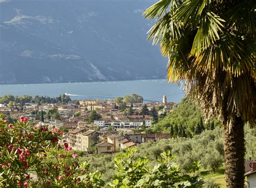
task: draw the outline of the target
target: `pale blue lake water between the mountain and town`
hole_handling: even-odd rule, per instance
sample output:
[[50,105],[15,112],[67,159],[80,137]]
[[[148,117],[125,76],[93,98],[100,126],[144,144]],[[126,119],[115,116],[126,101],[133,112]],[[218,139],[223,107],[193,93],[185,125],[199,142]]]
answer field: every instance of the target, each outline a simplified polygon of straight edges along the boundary
[[[11,95],[46,95],[58,96],[71,94],[71,99],[113,99],[117,96],[136,93],[147,101],[162,101],[163,95],[169,102],[180,102],[184,97],[180,86],[167,80],[132,80],[111,82],[76,82],[0,85],[0,96]],[[74,96],[79,95],[79,96]]]

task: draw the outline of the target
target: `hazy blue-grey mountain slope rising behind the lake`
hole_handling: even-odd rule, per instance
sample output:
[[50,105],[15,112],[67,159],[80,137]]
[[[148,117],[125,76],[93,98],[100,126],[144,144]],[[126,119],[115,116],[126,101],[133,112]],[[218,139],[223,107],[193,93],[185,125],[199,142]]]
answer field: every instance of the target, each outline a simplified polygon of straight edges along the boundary
[[0,83],[157,79],[153,0],[0,0]]

